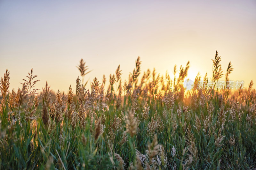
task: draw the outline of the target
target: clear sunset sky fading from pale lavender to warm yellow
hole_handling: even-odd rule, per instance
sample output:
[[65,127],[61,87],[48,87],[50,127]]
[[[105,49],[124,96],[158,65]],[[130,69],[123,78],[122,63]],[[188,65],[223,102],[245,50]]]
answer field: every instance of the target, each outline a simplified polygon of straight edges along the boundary
[[90,81],[119,64],[127,80],[138,56],[142,72],[173,75],[190,61],[188,78],[211,78],[216,50],[231,80],[256,82],[256,1],[0,0],[0,77],[10,71],[10,89],[32,68],[39,89],[75,89],[81,58]]

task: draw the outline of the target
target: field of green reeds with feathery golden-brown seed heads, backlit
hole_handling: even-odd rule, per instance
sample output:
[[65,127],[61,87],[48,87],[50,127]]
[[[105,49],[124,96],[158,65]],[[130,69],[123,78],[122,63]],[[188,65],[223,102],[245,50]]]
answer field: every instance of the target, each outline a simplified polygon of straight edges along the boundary
[[[179,76],[171,79],[156,70],[142,73],[138,57],[128,80],[118,66],[109,83],[95,78],[87,89],[90,71],[81,60],[68,94],[52,94],[47,82],[36,89],[33,70],[15,92],[6,70],[0,169],[255,169],[253,83],[215,88],[218,80],[229,81],[233,66],[222,70],[217,51],[212,58],[212,75],[198,74],[191,90],[183,85],[189,62],[175,66]],[[198,88],[200,80],[213,86]]]

